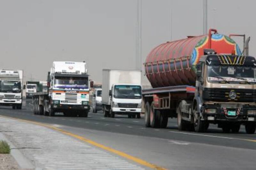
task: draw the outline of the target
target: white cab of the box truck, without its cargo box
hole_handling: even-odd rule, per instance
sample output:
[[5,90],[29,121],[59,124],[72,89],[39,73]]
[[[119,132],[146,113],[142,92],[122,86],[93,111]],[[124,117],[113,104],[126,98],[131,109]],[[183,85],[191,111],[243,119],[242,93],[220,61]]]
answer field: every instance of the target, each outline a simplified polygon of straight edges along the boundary
[[128,115],[129,118],[140,118],[141,85],[114,84],[109,92],[111,114]]

